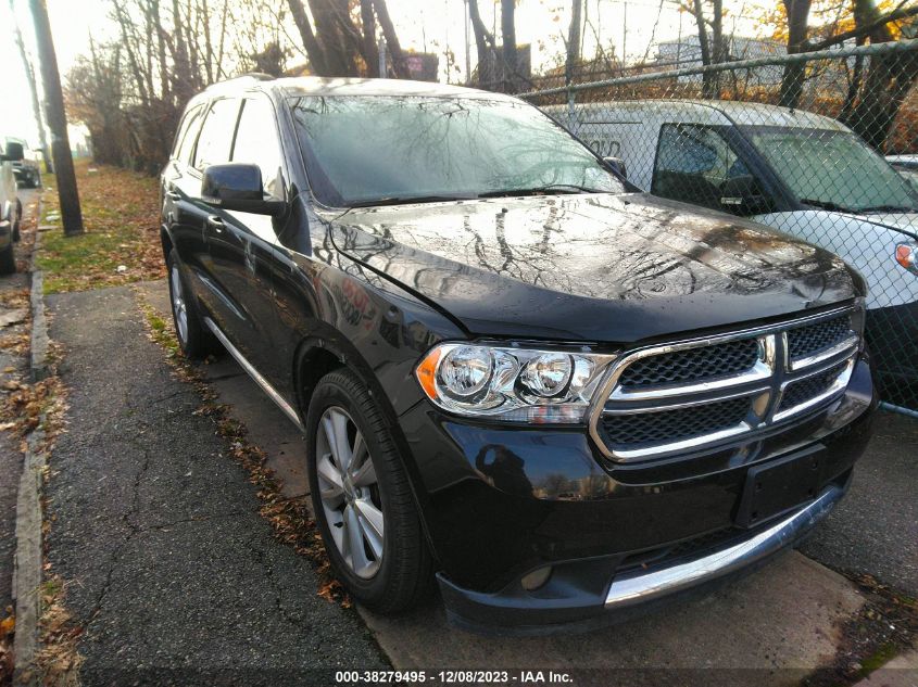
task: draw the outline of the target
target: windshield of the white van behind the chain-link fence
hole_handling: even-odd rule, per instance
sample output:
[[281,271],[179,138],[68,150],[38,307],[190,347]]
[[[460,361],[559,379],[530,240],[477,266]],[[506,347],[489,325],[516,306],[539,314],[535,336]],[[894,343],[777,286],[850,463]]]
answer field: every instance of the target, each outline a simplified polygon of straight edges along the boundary
[[851,131],[744,127],[802,203],[840,212],[914,211],[918,196]]

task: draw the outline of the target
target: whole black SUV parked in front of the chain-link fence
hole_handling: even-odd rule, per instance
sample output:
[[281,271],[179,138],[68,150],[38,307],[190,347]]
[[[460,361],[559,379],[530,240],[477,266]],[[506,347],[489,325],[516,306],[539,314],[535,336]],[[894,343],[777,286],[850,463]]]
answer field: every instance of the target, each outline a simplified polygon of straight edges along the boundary
[[750,569],[841,498],[876,406],[838,257],[628,186],[520,100],[247,76],[188,105],[162,242],[305,435],[380,612],[544,632]]

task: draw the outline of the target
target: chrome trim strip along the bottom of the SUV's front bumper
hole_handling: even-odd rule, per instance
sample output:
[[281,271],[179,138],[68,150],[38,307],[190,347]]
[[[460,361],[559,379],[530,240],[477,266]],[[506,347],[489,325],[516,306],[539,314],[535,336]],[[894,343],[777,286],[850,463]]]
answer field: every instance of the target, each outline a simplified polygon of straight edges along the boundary
[[613,580],[606,609],[625,608],[724,577],[777,554],[822,520],[844,489],[831,486],[815,501],[767,530],[719,551],[662,570],[637,570]]

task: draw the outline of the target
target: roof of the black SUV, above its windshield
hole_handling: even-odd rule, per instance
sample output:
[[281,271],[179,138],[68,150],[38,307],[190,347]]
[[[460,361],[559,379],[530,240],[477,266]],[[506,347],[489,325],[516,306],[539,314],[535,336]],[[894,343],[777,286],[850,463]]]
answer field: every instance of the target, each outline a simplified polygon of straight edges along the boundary
[[266,75],[246,75],[226,81],[219,81],[201,93],[200,97],[235,94],[244,90],[274,90],[282,96],[415,96],[427,98],[473,98],[487,100],[518,101],[503,93],[465,88],[430,81],[408,79],[361,79],[326,78],[319,76],[298,76],[272,78]]

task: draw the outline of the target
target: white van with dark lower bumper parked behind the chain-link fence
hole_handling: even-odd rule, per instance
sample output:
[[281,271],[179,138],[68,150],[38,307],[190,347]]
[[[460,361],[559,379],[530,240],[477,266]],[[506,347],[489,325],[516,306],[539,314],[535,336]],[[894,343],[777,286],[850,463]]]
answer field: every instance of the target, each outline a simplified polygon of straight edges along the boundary
[[918,390],[918,195],[844,125],[729,101],[545,110],[654,195],[747,217],[844,258],[869,287],[881,391]]

